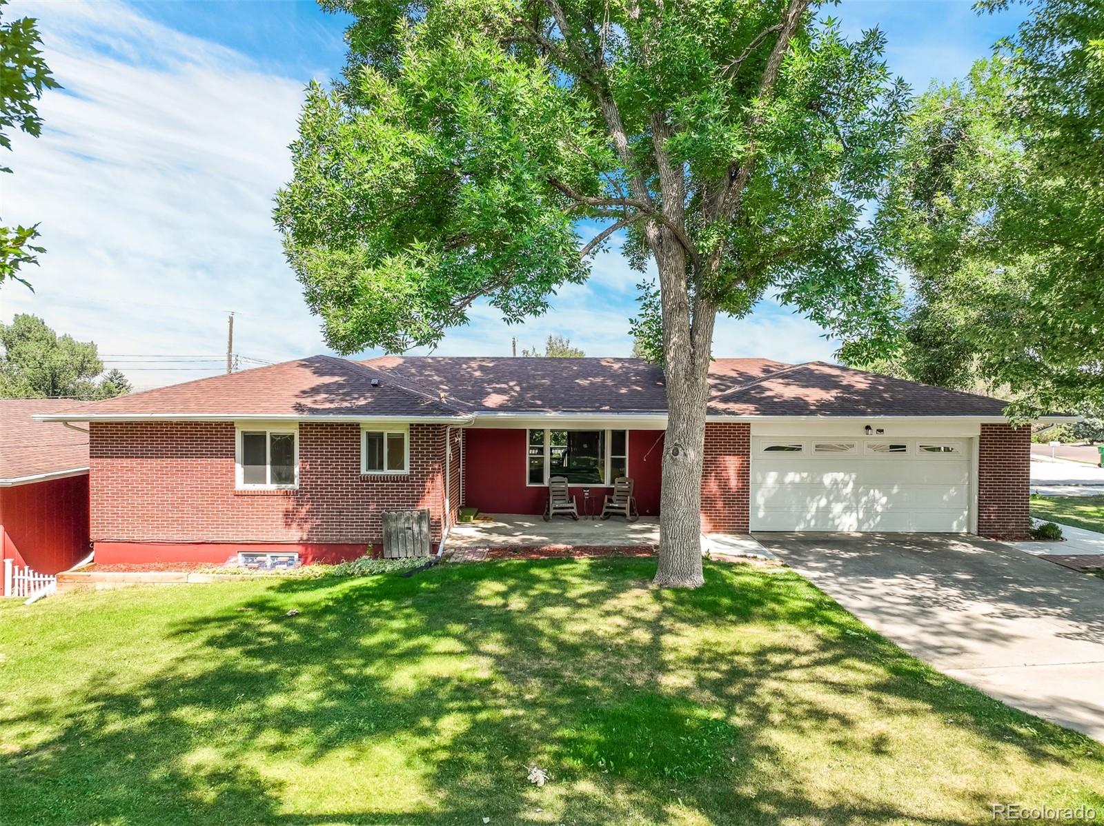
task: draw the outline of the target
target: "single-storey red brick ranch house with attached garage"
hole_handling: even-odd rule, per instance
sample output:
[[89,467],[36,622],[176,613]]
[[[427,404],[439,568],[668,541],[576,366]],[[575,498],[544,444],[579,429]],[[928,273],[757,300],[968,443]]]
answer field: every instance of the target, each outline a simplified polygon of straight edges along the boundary
[[[822,362],[718,358],[705,533],[1028,528],[1029,428],[1004,404]],[[659,508],[666,391],[635,358],[314,356],[39,417],[87,422],[96,559],[376,549],[381,512],[539,514],[629,475]]]

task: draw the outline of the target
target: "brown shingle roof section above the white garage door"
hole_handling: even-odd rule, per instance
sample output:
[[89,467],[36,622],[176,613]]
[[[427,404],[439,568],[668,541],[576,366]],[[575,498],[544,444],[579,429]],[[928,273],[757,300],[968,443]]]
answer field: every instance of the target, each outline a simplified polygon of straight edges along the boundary
[[1000,416],[1006,403],[973,393],[809,362],[710,401],[728,416]]

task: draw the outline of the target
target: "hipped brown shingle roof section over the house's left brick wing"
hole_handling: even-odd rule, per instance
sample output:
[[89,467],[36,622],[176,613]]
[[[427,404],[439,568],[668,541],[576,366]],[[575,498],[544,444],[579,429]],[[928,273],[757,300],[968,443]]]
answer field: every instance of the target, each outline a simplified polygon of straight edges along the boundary
[[[379,382],[376,386],[372,380]],[[93,416],[455,417],[431,389],[347,358],[316,355],[86,405]]]

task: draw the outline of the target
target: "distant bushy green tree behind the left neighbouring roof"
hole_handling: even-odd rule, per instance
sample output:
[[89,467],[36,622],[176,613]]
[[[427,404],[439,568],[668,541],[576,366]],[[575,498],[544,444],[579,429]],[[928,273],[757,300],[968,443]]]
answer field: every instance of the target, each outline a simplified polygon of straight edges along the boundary
[[19,314],[0,323],[0,398],[97,399],[128,393],[119,371],[104,372],[96,345],[59,336],[36,315]]

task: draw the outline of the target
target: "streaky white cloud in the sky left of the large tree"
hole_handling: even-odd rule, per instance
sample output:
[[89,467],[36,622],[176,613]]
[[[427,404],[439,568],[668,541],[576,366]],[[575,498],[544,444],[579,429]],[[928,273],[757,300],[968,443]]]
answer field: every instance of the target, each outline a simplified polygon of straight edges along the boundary
[[[224,351],[236,310],[237,352],[322,351],[270,218],[301,84],[121,4],[11,13],[40,19],[65,90],[43,96],[40,139],[13,141],[3,216],[41,221],[47,253],[34,293],[4,288],[2,317],[36,313],[103,353],[199,355]],[[130,373],[144,386],[201,375]]]

